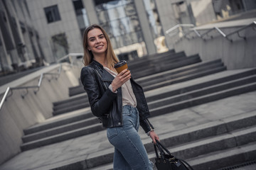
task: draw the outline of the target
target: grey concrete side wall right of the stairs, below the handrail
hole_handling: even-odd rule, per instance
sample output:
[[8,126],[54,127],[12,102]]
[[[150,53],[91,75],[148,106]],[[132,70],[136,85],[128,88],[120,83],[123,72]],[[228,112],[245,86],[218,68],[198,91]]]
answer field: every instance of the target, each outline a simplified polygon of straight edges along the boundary
[[[238,28],[222,30],[224,33],[231,33]],[[237,33],[228,37],[233,42],[218,33],[214,33],[213,38],[205,36],[206,40],[198,37],[191,40],[183,38],[176,42],[174,50],[184,51],[187,56],[199,54],[203,61],[221,59],[228,69],[256,67],[256,32],[253,28],[247,28],[242,30],[240,35],[246,37],[246,40],[239,38]]]

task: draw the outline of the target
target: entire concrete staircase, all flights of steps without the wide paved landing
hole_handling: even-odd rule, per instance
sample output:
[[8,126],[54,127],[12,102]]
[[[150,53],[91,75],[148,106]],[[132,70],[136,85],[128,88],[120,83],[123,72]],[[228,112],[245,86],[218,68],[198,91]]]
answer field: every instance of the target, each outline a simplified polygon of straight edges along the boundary
[[[169,60],[166,56],[175,57]],[[178,60],[177,56],[182,60]],[[156,67],[159,60],[169,63],[168,67]],[[152,118],[170,117],[174,111],[256,90],[256,69],[225,71],[220,60],[200,61],[197,55],[186,57],[182,52],[139,60],[140,64],[151,66],[143,68],[149,74],[138,70],[134,73],[139,72],[136,81],[144,87]],[[131,62],[129,68],[136,69],[139,62]],[[97,135],[105,130],[90,112],[85,93],[70,95],[70,98],[54,103],[53,110],[53,114],[57,115],[55,118],[23,130],[22,151],[74,137]],[[72,114],[69,113],[71,111]],[[161,142],[174,155],[186,159],[194,169],[220,169],[255,160],[255,125],[255,111],[174,132],[166,124],[166,130],[161,130]],[[151,142],[144,143],[153,160],[155,156]],[[112,155],[113,149],[107,147],[87,159],[61,164],[58,169],[112,169]]]

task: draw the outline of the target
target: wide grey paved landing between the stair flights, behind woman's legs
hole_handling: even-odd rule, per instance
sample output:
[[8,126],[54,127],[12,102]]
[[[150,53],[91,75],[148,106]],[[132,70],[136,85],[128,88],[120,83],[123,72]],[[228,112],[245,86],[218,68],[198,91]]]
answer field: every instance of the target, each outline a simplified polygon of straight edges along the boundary
[[[82,109],[73,113],[77,114],[85,110]],[[189,128],[194,125],[252,111],[256,111],[256,91],[186,108],[167,115],[157,116],[156,118],[151,118],[151,122],[161,138],[168,134],[170,130]],[[69,113],[69,115],[73,113]],[[150,142],[149,137],[144,134],[142,129],[139,132],[144,143]],[[65,164],[68,162],[78,162],[81,159],[87,159],[112,150],[113,148],[107,141],[106,131],[104,130],[97,132],[97,134],[85,135],[73,140],[66,140],[53,145],[21,152],[21,154],[10,159],[9,162],[1,165],[0,169],[39,170],[54,168],[64,162]],[[256,169],[256,164],[252,166],[252,169]]]

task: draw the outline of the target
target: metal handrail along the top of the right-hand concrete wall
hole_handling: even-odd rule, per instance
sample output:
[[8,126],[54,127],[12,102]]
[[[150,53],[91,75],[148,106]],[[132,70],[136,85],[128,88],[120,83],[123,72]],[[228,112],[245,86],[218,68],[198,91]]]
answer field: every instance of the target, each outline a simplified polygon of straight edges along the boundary
[[[230,35],[235,34],[235,33],[238,33],[238,37],[243,38],[244,40],[246,40],[245,37],[240,36],[239,32],[240,32],[241,30],[245,30],[246,28],[249,28],[249,27],[255,26],[255,25],[256,25],[256,21],[253,21],[252,23],[248,24],[247,26],[243,26],[242,28],[239,28],[238,30],[235,30],[235,31],[233,31],[232,33],[229,33],[229,34],[223,33],[223,31],[220,30],[220,28],[218,28],[218,27],[208,28],[208,30],[207,30],[207,29],[202,29],[202,30],[207,30],[206,33],[203,33],[203,34],[198,33],[198,30],[196,30],[195,28],[192,28],[191,30],[188,31],[188,33],[186,33],[186,34],[184,35],[184,37],[186,38],[186,35],[189,35],[190,33],[194,32],[194,33],[196,33],[196,35],[197,35],[199,38],[203,38],[204,35],[208,35],[208,33],[210,33],[211,31],[217,30],[217,32],[220,33],[220,35],[222,35],[222,36],[223,36],[224,38],[226,38],[227,40],[230,40],[228,37],[229,37]],[[213,37],[212,37],[212,38],[213,38]],[[187,38],[187,39],[189,39],[189,38]],[[204,39],[204,40],[206,40],[206,39]],[[233,42],[233,40],[230,40],[230,42]]]

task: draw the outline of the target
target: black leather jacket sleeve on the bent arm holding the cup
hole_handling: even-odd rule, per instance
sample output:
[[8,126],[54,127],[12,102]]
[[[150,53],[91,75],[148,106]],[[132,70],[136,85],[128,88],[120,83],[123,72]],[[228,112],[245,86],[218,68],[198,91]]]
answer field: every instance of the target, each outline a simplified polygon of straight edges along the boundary
[[117,94],[113,93],[109,88],[104,94],[100,94],[100,82],[96,80],[96,73],[91,67],[82,68],[80,79],[87,92],[92,114],[97,117],[107,114]]

